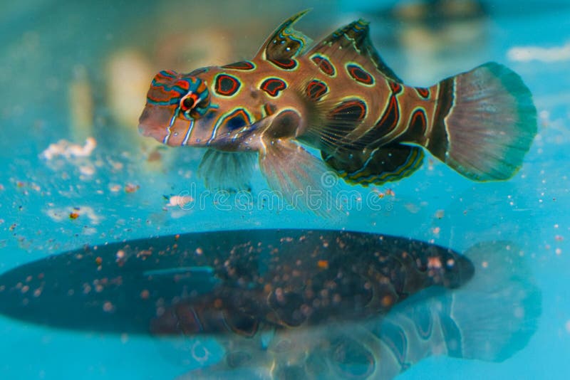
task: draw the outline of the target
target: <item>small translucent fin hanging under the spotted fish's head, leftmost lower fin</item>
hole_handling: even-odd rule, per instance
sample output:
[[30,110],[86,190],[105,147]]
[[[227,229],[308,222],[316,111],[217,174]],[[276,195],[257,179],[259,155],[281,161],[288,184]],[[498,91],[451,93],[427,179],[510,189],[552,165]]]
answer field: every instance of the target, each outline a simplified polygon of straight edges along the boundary
[[209,189],[249,191],[256,158],[257,153],[253,152],[207,149],[198,167],[198,177]]

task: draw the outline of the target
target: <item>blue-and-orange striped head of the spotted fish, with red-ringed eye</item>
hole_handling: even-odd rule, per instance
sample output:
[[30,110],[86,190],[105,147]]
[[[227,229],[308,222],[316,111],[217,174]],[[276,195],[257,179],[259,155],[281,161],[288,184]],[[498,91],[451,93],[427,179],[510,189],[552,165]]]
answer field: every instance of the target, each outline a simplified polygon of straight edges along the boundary
[[231,150],[232,142],[261,119],[259,111],[251,111],[261,109],[261,103],[256,97],[242,99],[243,87],[242,80],[223,68],[188,74],[160,71],[150,84],[139,132],[170,146]]

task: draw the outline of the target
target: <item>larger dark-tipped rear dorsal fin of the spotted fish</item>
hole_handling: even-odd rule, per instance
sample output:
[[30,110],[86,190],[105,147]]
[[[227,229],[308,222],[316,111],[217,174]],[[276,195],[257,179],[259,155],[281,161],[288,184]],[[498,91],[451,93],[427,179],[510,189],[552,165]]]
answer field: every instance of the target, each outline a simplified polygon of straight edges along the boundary
[[363,19],[338,28],[312,48],[308,55],[311,57],[315,53],[323,53],[329,58],[342,55],[343,60],[359,63],[364,68],[375,68],[386,78],[402,83],[372,45],[368,21]]

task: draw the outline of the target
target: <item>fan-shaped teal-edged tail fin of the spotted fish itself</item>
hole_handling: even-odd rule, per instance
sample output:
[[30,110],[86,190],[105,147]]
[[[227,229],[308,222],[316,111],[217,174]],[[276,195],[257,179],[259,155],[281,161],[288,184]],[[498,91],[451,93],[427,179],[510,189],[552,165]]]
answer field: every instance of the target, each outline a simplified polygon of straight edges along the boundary
[[509,179],[537,134],[537,110],[522,79],[485,63],[440,82],[427,149],[475,181]]

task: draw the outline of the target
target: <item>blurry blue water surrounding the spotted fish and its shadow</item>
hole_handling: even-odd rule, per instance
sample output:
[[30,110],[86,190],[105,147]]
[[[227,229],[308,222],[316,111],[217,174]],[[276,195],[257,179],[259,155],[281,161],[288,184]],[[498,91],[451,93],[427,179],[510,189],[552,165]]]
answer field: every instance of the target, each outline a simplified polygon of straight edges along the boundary
[[[337,220],[257,205],[228,211],[232,204],[206,196],[196,179],[202,152],[156,150],[136,132],[144,104],[139,82],[146,88],[164,65],[190,71],[207,64],[206,55],[212,64],[249,58],[277,23],[307,8],[306,1],[77,3],[0,5],[1,272],[86,243],[229,228],[346,228],[456,250],[511,240],[531,258],[543,296],[539,329],[528,346],[502,364],[432,357],[401,378],[569,377],[570,6],[564,1],[493,1],[487,16],[464,35],[442,32],[457,35],[445,48],[410,42],[410,26],[375,13],[393,2],[369,1],[375,8],[366,2],[311,2],[314,10],[299,28],[315,39],[364,16],[373,22],[378,51],[406,82],[427,85],[496,60],[524,78],[539,112],[539,134],[510,181],[475,184],[439,162],[426,162],[413,176],[375,189],[394,194],[388,192],[376,210],[351,209]],[[219,46],[212,49],[214,43]],[[546,60],[550,53],[535,53],[535,59],[524,60],[533,51],[529,46],[554,55]],[[112,75],[112,67],[123,71]],[[86,137],[97,143],[88,157],[42,154],[61,139],[83,146]],[[160,159],[148,159],[150,152]],[[254,191],[263,189],[261,176],[253,185]],[[363,199],[373,191],[356,189]],[[187,210],[168,204],[170,196],[185,191],[195,199],[202,194],[203,204]],[[69,217],[73,212],[78,218]],[[170,379],[195,366],[175,343],[144,337],[62,332],[4,317],[0,334],[2,379]]]

